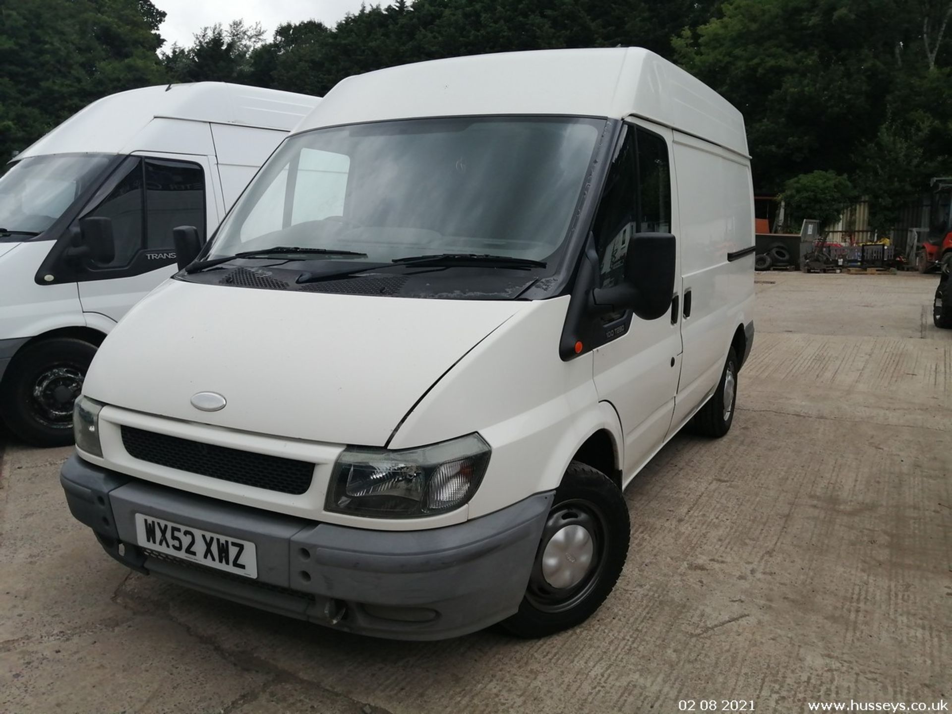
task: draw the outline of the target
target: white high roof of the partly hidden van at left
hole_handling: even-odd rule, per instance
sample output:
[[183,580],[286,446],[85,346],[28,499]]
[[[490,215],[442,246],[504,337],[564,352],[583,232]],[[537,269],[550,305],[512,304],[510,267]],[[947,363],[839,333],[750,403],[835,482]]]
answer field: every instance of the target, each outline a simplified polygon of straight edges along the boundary
[[[73,114],[16,158],[53,153],[128,153],[153,119],[289,131],[320,97],[225,82],[196,82],[129,89],[103,97]],[[173,138],[169,138],[169,145]],[[172,146],[169,149],[174,150]]]

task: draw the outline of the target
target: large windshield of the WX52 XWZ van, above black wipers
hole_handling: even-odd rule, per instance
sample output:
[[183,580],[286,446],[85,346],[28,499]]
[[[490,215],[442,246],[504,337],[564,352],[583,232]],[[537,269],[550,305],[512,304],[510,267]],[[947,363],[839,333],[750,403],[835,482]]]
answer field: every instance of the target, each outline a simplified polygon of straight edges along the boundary
[[308,261],[356,251],[373,263],[446,253],[554,262],[604,128],[603,119],[462,117],[298,134],[246,190],[208,257],[282,247]]

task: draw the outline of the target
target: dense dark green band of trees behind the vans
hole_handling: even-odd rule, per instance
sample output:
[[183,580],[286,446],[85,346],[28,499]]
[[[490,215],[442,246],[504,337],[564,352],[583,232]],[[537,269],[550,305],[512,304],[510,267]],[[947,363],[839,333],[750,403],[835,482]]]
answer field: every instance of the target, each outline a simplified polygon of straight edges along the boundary
[[164,81],[325,94],[425,59],[638,45],[744,111],[761,192],[840,177],[886,226],[952,174],[952,0],[393,0],[269,39],[217,25],[156,54],[163,17],[149,0],[0,0],[0,155],[95,97]]

